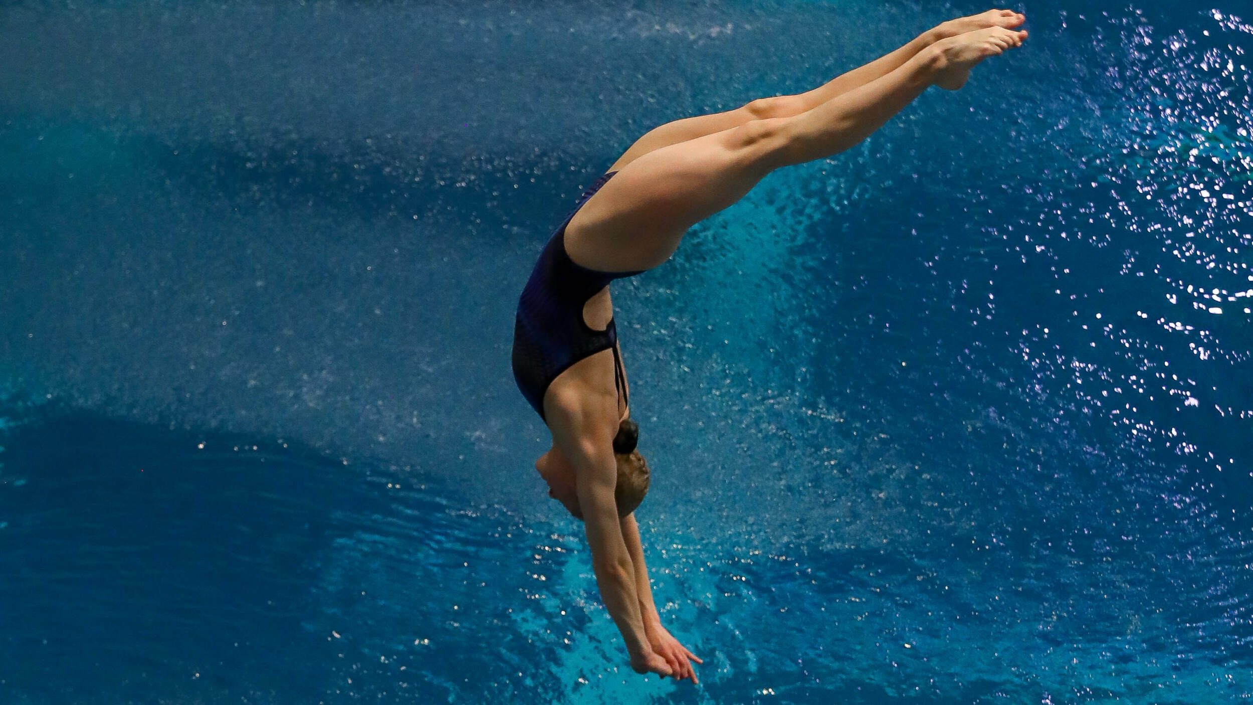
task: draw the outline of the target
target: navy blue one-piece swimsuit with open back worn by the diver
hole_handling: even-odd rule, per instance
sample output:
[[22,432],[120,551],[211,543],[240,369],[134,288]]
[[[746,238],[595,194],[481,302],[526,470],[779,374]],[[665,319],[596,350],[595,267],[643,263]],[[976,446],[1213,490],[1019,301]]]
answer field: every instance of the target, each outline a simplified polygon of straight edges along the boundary
[[[583,306],[615,278],[639,272],[601,272],[576,265],[565,251],[565,226],[615,173],[598,178],[565,217],[540,253],[517,301],[514,322],[514,379],[523,395],[544,419],[544,393],[553,380],[579,360],[601,350],[614,351],[614,383],[625,398],[626,376],[618,358],[618,329],[609,319],[605,330],[583,320]],[[548,419],[544,419],[545,421]]]

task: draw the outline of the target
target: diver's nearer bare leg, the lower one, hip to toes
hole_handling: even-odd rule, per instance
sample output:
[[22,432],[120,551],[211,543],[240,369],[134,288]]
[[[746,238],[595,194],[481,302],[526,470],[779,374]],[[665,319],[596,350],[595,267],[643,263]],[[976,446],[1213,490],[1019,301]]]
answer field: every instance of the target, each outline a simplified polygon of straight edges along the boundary
[[945,72],[969,70],[1025,38],[1025,31],[994,26],[944,39],[888,74],[801,114],[751,120],[653,151],[624,167],[579,209],[566,227],[566,251],[596,270],[655,267],[689,227],[739,201],[771,171],[848,149]]

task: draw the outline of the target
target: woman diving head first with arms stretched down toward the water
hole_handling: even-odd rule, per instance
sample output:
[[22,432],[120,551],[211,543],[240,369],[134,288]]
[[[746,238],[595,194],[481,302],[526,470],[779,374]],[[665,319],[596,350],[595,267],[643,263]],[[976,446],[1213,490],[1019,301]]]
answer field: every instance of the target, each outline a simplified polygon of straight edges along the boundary
[[544,247],[517,306],[514,376],[553,434],[535,469],[584,522],[596,585],[637,672],[695,684],[690,661],[702,661],[653,605],[633,514],[649,470],[628,418],[609,282],[668,260],[689,227],[771,171],[853,147],[932,84],[961,88],[971,66],[1022,44],[1026,31],[1014,28],[1024,21],[1010,10],[950,20],[808,93],[658,127],[583,193]]

